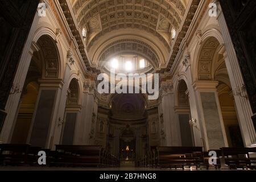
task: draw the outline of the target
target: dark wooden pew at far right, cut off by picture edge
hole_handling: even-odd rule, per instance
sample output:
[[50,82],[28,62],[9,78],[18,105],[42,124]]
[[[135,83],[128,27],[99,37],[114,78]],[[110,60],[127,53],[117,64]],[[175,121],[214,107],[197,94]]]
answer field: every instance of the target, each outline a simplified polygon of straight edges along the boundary
[[256,169],[256,158],[251,158],[250,153],[256,153],[256,148],[221,148],[222,159],[230,169]]

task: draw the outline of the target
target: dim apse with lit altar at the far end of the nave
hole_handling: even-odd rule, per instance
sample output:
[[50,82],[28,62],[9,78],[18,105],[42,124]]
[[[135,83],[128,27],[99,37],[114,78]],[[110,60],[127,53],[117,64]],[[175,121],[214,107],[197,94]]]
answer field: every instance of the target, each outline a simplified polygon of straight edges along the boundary
[[[135,162],[148,150],[149,123],[142,94],[115,94],[109,114],[108,143],[123,162]],[[126,147],[129,151],[126,151]],[[128,160],[126,157],[128,155]],[[135,163],[134,163],[135,164]]]

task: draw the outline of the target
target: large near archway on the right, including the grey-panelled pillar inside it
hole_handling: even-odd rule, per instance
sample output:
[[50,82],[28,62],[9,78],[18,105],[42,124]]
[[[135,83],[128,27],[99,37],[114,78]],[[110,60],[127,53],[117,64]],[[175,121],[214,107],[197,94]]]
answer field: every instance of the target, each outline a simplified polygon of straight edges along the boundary
[[[232,146],[232,140],[237,140],[235,146],[239,146],[238,138],[232,137],[232,133],[240,130],[237,127],[237,114],[233,104],[229,75],[226,71],[222,46],[212,36],[205,38],[201,44],[196,63],[195,88],[201,101],[201,114],[205,126],[205,141],[208,149],[216,149]],[[236,127],[234,127],[236,126]],[[236,138],[236,139],[234,139]],[[240,144],[238,144],[240,143]]]

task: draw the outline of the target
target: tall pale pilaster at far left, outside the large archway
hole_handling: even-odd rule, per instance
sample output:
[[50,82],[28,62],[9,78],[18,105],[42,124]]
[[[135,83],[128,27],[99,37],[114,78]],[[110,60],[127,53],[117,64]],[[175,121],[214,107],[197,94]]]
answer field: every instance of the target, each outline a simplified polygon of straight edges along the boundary
[[0,134],[0,141],[3,143],[11,142],[16,121],[16,112],[18,112],[19,100],[22,94],[24,82],[26,80],[28,68],[30,66],[30,61],[34,51],[39,50],[36,43],[32,42],[38,20],[39,16],[36,14],[27,38],[27,42],[20,57],[19,65],[13,81],[13,88],[11,89],[8,101],[6,103],[5,111],[7,115]]

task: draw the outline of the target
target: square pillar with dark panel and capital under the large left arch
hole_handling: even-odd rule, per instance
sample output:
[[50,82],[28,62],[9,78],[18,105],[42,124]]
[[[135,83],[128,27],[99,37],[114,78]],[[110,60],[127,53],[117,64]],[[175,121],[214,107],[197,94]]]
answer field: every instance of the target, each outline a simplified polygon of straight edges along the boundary
[[39,83],[38,101],[28,134],[28,143],[32,146],[50,148],[63,82],[56,79],[39,80]]

